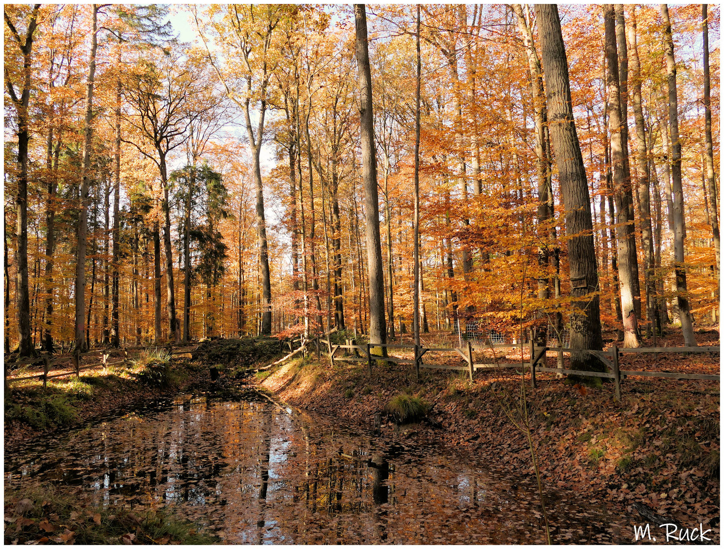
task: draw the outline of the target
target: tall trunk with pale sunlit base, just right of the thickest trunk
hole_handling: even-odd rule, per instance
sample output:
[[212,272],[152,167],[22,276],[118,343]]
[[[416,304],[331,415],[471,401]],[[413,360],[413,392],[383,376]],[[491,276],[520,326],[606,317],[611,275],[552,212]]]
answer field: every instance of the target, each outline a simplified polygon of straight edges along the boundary
[[639,327],[636,322],[636,308],[633,293],[633,267],[631,250],[636,251],[633,225],[628,219],[627,194],[631,180],[626,180],[626,156],[628,147],[624,143],[623,127],[626,122],[621,118],[618,51],[616,47],[615,13],[613,4],[605,4],[603,8],[605,20],[608,91],[608,122],[611,136],[611,164],[613,166],[613,188],[616,201],[616,225],[618,225],[618,278],[620,281],[621,311],[623,314],[623,346],[638,347],[641,343]]

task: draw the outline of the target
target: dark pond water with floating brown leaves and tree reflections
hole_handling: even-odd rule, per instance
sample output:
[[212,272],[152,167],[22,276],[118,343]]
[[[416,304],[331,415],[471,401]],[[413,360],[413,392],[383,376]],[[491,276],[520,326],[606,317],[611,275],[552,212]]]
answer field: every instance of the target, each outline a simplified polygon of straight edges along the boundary
[[[228,543],[539,543],[532,479],[392,442],[253,391],[178,395],[5,454],[5,483],[171,505]],[[554,542],[628,542],[600,502],[547,492]]]

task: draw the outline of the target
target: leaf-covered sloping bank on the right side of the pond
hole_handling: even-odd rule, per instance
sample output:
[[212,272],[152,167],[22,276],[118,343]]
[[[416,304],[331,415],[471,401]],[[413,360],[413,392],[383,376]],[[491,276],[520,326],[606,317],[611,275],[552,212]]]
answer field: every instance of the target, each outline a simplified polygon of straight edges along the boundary
[[[719,345],[715,331],[699,332],[696,338],[699,345]],[[657,344],[681,346],[683,340],[670,335]],[[517,357],[506,354],[502,361],[521,360],[521,351]],[[395,351],[395,356],[403,354]],[[549,364],[555,364],[554,357],[549,353]],[[434,361],[444,362],[437,356]],[[460,364],[460,359],[450,362]],[[442,440],[479,453],[492,469],[534,474],[526,435],[504,409],[521,402],[521,375],[515,369],[478,370],[473,382],[465,372],[422,369],[416,380],[409,364],[382,364],[375,364],[370,377],[366,361],[329,366],[328,359],[317,361],[311,355],[258,372],[256,383],[287,403],[370,429],[375,414],[382,412],[383,436],[420,444]],[[720,373],[719,356],[712,354],[629,354],[620,364],[639,371]],[[594,505],[615,504],[636,517],[636,524],[661,517],[689,528],[702,523],[718,539],[718,382],[631,376],[623,380],[621,401],[615,402],[611,383],[592,389],[567,385],[555,374],[536,377],[535,390],[525,377],[526,400],[544,485],[575,491]],[[400,427],[386,418],[385,406],[400,394],[429,404],[426,422]],[[640,511],[644,515],[639,517]],[[659,517],[651,518],[652,513]]]

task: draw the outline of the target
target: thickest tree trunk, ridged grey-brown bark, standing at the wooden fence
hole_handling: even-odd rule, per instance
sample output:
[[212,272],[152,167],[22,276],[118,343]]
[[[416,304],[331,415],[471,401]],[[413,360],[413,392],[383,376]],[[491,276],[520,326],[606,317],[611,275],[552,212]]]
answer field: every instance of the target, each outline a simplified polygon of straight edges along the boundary
[[596,356],[576,349],[602,349],[599,314],[598,272],[593,242],[591,198],[581,146],[571,106],[568,80],[568,59],[563,46],[557,6],[536,4],[541,36],[542,64],[550,127],[550,141],[560,179],[565,207],[565,229],[568,241],[568,265],[574,310],[571,313],[571,368],[603,372]]

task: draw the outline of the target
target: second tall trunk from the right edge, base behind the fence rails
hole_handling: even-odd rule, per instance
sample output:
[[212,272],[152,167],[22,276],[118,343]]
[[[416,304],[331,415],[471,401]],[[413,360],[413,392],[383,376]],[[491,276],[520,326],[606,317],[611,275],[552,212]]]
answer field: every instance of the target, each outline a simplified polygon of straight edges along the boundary
[[669,22],[669,9],[661,4],[661,17],[664,23],[664,56],[669,87],[669,133],[671,137],[671,191],[674,214],[674,264],[676,274],[676,301],[678,303],[679,318],[681,319],[681,332],[684,344],[688,347],[696,346],[694,326],[689,312],[689,297],[686,289],[686,269],[683,266],[683,240],[686,235],[686,225],[683,219],[683,189],[681,187],[681,141],[678,133],[678,100],[676,97],[676,64],[674,61],[674,44],[671,37],[671,23]]

